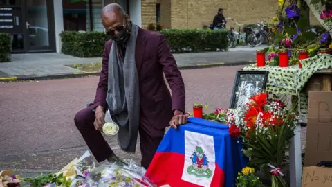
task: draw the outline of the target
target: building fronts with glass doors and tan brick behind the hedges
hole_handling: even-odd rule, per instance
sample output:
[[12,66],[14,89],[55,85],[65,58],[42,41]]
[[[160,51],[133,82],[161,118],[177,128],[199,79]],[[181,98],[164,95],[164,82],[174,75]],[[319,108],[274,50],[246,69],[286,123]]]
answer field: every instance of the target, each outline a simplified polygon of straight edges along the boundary
[[[225,8],[225,17],[234,21],[255,24],[269,21],[277,10],[277,0],[0,0],[0,33],[12,36],[12,53],[59,53],[62,31],[104,30],[100,13],[109,3],[120,4],[142,28],[151,23],[203,28],[212,23],[218,8]],[[311,24],[319,24],[312,14]]]

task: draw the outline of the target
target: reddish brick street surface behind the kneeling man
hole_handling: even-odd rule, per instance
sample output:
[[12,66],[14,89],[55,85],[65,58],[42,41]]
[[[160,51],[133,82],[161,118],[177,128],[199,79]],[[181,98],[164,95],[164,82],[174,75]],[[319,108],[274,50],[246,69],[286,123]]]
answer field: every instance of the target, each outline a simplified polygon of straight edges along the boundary
[[[181,71],[187,94],[186,110],[191,111],[195,102],[208,103],[211,111],[215,107],[227,108],[235,72],[241,67]],[[97,83],[97,77],[0,83],[0,168],[59,169],[75,157],[66,150],[77,156],[82,154],[86,146],[73,118],[93,100]],[[122,157],[136,160],[140,157],[139,151],[120,152],[115,138],[107,140]],[[33,161],[36,158],[37,163]],[[62,165],[48,164],[58,163],[59,158]]]

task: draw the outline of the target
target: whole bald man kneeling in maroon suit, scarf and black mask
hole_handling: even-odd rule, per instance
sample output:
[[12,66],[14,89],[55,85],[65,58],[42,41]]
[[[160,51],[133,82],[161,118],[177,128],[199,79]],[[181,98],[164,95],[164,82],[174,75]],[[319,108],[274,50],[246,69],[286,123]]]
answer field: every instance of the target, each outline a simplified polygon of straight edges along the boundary
[[100,132],[108,110],[119,126],[122,150],[136,151],[139,132],[141,165],[147,168],[165,127],[187,123],[185,85],[163,35],[139,28],[115,3],[105,6],[101,17],[111,39],[104,46],[94,104],[76,114],[75,125],[98,162],[120,161]]

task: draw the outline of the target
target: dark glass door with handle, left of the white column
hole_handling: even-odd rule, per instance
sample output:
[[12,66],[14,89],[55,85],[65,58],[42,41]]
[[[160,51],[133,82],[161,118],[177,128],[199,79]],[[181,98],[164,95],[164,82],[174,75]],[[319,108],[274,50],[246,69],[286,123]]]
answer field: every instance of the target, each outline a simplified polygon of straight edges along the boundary
[[[57,0],[55,0],[57,1]],[[25,0],[26,16],[26,47],[28,51],[50,50],[52,46],[53,30],[50,21],[53,21],[53,1]]]

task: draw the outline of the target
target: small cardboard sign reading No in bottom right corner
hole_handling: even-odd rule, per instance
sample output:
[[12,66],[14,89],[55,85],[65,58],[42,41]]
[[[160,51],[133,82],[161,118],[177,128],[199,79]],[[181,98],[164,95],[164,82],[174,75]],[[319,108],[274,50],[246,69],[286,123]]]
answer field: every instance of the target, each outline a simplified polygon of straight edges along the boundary
[[331,187],[332,168],[304,167],[302,175],[302,187]]

